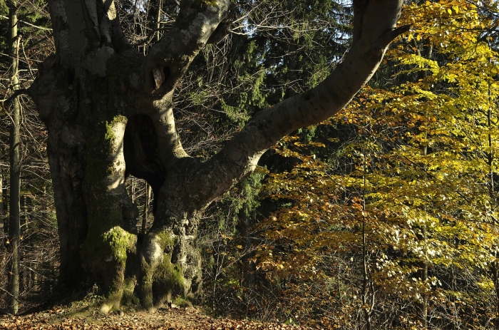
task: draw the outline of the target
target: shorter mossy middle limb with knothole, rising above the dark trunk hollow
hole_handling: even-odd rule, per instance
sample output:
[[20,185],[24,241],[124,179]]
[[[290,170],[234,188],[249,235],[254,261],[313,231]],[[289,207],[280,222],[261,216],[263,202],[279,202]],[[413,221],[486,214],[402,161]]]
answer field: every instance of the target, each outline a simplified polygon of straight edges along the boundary
[[[218,37],[229,6],[230,0],[182,0],[175,26],[145,57],[141,70],[146,106],[138,108],[153,120],[160,160],[166,170],[187,157],[175,129],[173,89],[197,53]],[[153,108],[148,107],[150,100],[155,103]]]

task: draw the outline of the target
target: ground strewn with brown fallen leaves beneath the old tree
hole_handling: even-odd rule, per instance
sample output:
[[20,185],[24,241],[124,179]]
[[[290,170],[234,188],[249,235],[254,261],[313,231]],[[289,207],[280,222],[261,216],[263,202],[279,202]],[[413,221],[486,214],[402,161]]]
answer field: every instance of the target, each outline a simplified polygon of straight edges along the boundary
[[57,330],[128,330],[128,329],[165,329],[165,330],[232,330],[257,329],[280,330],[310,329],[304,326],[257,322],[234,319],[215,319],[194,307],[159,309],[154,313],[144,310],[127,309],[125,311],[101,314],[96,306],[55,306],[46,311],[22,316],[0,316],[0,329],[57,329]]

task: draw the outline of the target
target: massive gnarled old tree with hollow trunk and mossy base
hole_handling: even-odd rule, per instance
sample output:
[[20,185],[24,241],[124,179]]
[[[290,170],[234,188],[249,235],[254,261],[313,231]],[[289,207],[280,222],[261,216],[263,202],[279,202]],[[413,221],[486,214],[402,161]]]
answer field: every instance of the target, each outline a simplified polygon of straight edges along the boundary
[[[197,53],[226,33],[230,0],[182,0],[175,25],[146,56],[120,29],[113,0],[51,0],[56,53],[27,93],[48,129],[48,158],[61,241],[61,280],[89,277],[102,311],[138,292],[155,309],[173,294],[202,292],[197,226],[216,197],[248,175],[284,135],[329,118],[369,81],[396,28],[401,0],[354,1],[354,40],[344,61],[307,93],[257,113],[215,156],[182,148],[173,94]],[[147,180],[158,200],[137,244],[137,211],[125,172]]]

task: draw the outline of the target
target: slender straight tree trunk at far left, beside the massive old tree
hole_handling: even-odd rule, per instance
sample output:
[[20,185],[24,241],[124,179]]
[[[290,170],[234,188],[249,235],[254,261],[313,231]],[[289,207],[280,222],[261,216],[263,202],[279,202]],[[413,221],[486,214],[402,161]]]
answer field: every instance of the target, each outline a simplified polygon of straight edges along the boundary
[[[14,91],[19,89],[18,51],[19,36],[17,34],[17,5],[9,1],[9,42],[11,55],[11,84]],[[20,195],[21,195],[21,158],[19,153],[19,125],[21,104],[14,98],[14,111],[10,131],[10,216],[9,216],[9,247],[12,253],[10,272],[11,312],[17,314],[19,308],[19,244],[20,242]]]

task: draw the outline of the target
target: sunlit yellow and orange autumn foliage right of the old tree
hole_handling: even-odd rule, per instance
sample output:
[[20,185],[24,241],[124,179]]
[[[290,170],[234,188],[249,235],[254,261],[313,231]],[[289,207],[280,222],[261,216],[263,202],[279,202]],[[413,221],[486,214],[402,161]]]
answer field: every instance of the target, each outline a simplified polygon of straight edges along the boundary
[[[349,299],[359,302],[364,249],[380,309],[413,306],[401,324],[418,304],[436,313],[434,324],[480,324],[473,313],[495,312],[485,309],[498,286],[499,61],[487,15],[496,6],[408,4],[400,24],[413,29],[387,53],[391,70],[327,123],[349,135],[318,137],[334,155],[296,138],[279,146],[301,163],[264,187],[284,207],[262,224],[272,242],[255,258],[262,269],[332,281],[349,264]],[[441,312],[478,297],[473,313]]]

